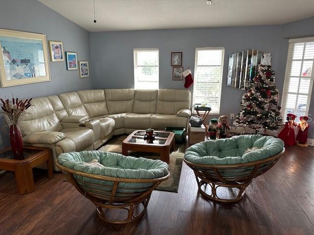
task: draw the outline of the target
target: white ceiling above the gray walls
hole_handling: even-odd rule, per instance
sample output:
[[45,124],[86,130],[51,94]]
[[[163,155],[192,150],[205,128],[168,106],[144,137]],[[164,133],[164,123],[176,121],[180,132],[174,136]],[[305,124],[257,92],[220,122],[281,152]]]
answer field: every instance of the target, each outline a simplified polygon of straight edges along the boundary
[[95,24],[93,0],[39,1],[91,32],[285,24],[314,16],[314,0],[212,0],[212,5],[206,0],[95,0]]

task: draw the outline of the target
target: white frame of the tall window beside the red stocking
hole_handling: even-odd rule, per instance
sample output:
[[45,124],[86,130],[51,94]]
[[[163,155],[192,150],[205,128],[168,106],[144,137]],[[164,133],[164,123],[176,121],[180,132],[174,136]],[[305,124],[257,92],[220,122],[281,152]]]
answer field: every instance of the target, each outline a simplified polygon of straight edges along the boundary
[[194,85],[193,85],[193,97],[192,97],[192,101],[193,104],[195,103],[195,84],[197,83],[197,67],[218,67],[217,65],[202,65],[202,66],[198,66],[197,65],[197,59],[198,59],[198,51],[201,50],[221,50],[221,77],[220,77],[220,83],[219,83],[219,97],[218,97],[218,111],[210,111],[210,114],[214,114],[214,115],[219,115],[220,114],[220,106],[221,106],[221,90],[222,90],[222,80],[223,80],[223,70],[224,70],[224,58],[225,58],[225,47],[195,47],[195,64],[194,64]]

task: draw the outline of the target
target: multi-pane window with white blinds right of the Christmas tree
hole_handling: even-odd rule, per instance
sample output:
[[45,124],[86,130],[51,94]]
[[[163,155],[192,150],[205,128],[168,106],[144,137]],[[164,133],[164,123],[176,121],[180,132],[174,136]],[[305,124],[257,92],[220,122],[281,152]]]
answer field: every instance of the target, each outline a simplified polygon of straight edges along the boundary
[[306,116],[313,88],[314,37],[290,39],[281,106],[288,113]]

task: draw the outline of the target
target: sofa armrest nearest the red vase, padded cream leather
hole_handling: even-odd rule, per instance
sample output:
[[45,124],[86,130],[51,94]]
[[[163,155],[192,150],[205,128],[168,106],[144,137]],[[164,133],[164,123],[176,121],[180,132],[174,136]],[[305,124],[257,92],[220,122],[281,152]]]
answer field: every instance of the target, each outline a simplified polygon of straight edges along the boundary
[[44,144],[53,144],[58,141],[62,141],[65,138],[65,134],[57,131],[43,131],[43,132],[34,132],[23,137],[24,143],[44,143]]

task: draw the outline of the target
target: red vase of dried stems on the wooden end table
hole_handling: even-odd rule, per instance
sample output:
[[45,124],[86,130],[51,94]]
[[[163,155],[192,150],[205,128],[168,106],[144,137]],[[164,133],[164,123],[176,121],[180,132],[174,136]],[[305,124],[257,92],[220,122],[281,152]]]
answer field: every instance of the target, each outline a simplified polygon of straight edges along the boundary
[[23,139],[18,122],[21,116],[25,115],[26,109],[31,106],[31,100],[31,98],[26,100],[19,98],[3,100],[0,98],[1,109],[11,122],[10,143],[15,159],[23,159]]

